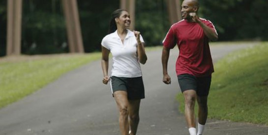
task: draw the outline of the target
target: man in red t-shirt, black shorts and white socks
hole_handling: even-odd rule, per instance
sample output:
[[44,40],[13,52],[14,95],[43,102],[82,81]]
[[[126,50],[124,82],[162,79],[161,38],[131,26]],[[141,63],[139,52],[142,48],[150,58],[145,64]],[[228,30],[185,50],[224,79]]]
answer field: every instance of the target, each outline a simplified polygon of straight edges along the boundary
[[[174,24],[163,40],[163,82],[171,83],[167,72],[170,49],[179,48],[176,73],[185,101],[185,118],[190,135],[202,135],[208,116],[208,92],[211,74],[214,72],[208,42],[218,39],[213,24],[197,16],[198,0],[184,0],[181,5],[182,19]],[[198,103],[198,132],[194,115]]]

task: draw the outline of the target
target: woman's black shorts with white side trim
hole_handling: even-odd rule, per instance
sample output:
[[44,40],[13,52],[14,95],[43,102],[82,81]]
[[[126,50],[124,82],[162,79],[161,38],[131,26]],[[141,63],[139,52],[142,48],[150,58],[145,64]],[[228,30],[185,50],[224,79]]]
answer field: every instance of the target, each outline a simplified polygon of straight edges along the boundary
[[142,77],[123,78],[123,77],[112,76],[111,90],[112,93],[119,90],[126,91],[127,98],[130,100],[145,98],[145,91]]

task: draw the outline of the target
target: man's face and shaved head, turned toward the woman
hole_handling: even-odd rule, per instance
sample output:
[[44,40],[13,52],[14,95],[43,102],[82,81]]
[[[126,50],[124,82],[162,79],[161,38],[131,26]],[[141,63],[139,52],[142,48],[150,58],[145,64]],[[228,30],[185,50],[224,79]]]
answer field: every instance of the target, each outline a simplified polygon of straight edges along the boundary
[[194,2],[191,0],[184,0],[181,4],[181,16],[182,19],[191,20],[189,13],[195,12]]

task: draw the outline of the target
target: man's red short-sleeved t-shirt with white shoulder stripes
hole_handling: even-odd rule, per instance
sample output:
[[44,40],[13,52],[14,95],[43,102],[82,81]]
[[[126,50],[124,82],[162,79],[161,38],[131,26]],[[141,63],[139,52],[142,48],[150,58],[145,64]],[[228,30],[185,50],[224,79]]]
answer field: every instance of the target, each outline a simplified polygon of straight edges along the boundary
[[[216,31],[210,21],[200,20]],[[171,26],[163,40],[163,45],[168,49],[173,49],[176,44],[178,45],[177,75],[190,74],[196,77],[206,77],[214,72],[208,42],[208,37],[197,23],[181,20]]]

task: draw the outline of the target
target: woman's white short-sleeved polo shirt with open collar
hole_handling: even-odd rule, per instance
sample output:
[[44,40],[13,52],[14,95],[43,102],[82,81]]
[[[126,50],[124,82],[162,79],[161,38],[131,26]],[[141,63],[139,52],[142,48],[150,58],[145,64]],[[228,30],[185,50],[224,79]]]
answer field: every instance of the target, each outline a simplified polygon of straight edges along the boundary
[[[142,35],[141,42],[144,43]],[[111,76],[134,78],[141,77],[142,71],[137,57],[137,40],[134,32],[127,29],[127,35],[122,43],[117,30],[106,35],[101,45],[110,50],[113,55]]]

